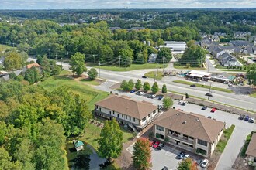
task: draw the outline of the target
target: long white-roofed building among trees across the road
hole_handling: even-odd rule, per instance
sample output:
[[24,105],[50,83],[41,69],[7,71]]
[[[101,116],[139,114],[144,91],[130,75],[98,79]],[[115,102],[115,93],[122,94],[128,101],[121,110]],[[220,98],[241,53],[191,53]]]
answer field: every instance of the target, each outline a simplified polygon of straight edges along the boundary
[[184,53],[186,48],[185,42],[177,42],[177,41],[164,41],[164,45],[159,46],[159,48],[168,48],[171,49],[171,53],[178,54]]

